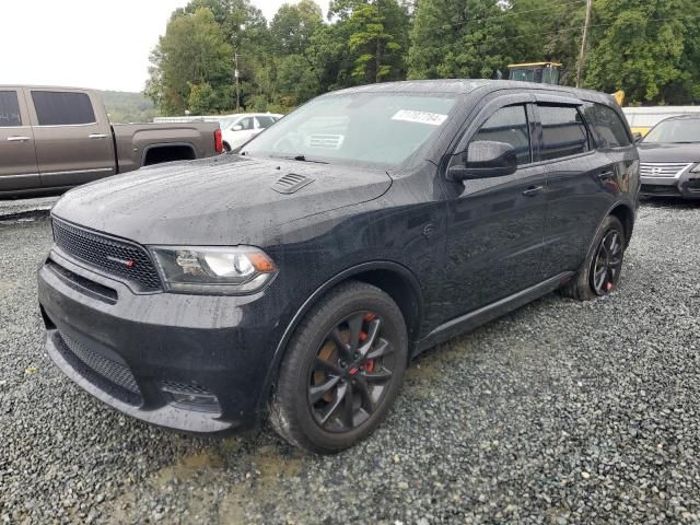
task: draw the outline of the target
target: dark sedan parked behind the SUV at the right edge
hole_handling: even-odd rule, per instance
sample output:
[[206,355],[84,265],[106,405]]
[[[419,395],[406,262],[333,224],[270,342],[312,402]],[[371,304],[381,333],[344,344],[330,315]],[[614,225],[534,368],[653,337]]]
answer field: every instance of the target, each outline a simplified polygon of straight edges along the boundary
[[642,196],[700,199],[700,115],[667,118],[637,147]]

